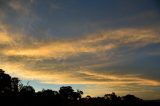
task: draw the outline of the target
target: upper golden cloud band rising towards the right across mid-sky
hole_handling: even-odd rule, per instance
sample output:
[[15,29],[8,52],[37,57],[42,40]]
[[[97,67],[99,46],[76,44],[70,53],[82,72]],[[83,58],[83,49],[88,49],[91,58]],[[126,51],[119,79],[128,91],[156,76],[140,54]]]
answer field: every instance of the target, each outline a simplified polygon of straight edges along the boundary
[[[5,34],[1,34],[1,36],[2,42],[10,42],[12,40]],[[25,40],[22,39],[22,41]],[[102,41],[108,43],[101,44],[100,42]],[[160,38],[157,36],[156,32],[151,29],[121,29],[103,32],[102,35],[89,35],[76,40],[53,40],[50,42],[37,43],[40,45],[31,43],[28,47],[18,46],[16,49],[11,48],[10,50],[5,51],[4,54],[9,56],[65,58],[72,55],[78,55],[79,53],[103,52],[119,47],[120,45],[132,44],[132,47],[141,47],[159,41]],[[34,42],[34,40],[32,42]]]

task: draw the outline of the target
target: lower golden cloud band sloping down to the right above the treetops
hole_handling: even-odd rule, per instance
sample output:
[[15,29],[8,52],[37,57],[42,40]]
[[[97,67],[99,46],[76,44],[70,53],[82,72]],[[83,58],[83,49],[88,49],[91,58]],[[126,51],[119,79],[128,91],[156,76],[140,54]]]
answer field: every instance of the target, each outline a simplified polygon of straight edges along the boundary
[[[160,86],[160,82],[152,79],[143,78],[139,75],[117,75],[113,73],[103,73],[83,70],[66,70],[61,72],[58,70],[44,71],[44,70],[29,70],[24,64],[18,63],[1,63],[0,67],[7,70],[7,73],[16,75],[22,79],[39,80],[46,84],[111,84],[111,85],[148,85]],[[85,74],[85,76],[79,76]],[[95,80],[88,80],[89,78]],[[99,81],[100,79],[100,81]]]

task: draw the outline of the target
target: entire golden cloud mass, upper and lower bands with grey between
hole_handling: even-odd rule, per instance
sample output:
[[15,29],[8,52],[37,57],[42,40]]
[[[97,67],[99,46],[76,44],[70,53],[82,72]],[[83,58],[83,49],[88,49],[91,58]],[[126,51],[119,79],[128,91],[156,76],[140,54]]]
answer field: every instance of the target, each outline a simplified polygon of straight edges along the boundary
[[[133,70],[127,66],[134,59],[148,56],[150,50],[144,48],[160,43],[159,32],[153,29],[122,28],[73,39],[41,40],[25,33],[13,35],[5,32],[4,27],[0,37],[0,47],[7,45],[0,51],[0,67],[24,80],[38,80],[43,84],[97,85],[99,87],[94,88],[97,95],[101,94],[99,89],[107,85],[112,85],[110,90],[131,85],[160,86],[159,79],[148,77],[149,72],[144,68],[144,73],[140,73],[134,71],[140,70],[138,66],[133,65]],[[118,67],[118,64],[124,64],[124,67],[110,68]],[[156,68],[152,70],[156,71]],[[123,88],[119,89],[122,93]]]

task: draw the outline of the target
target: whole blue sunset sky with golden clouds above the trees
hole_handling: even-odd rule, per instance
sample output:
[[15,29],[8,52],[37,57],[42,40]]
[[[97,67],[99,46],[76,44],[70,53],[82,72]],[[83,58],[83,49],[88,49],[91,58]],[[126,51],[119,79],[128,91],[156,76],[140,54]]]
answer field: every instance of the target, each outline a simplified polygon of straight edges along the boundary
[[0,0],[0,68],[36,91],[160,99],[160,2]]

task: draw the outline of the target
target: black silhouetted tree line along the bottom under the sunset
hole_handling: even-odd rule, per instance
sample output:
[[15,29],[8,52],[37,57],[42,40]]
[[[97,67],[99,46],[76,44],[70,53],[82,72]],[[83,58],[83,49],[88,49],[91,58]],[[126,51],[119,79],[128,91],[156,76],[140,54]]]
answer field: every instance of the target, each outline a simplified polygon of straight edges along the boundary
[[[83,91],[62,86],[59,91],[43,89],[35,92],[31,85],[23,85],[19,78],[11,77],[0,69],[0,105],[5,106],[149,106],[142,99],[114,92],[103,97],[82,97]],[[158,105],[157,105],[158,106]]]

